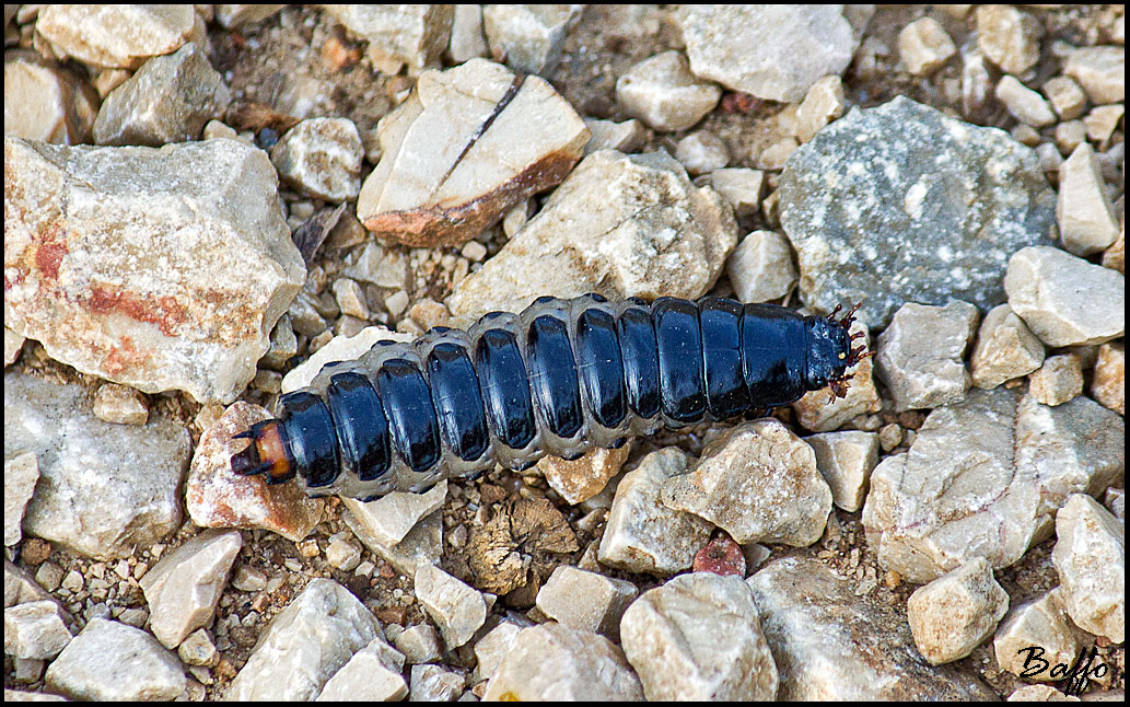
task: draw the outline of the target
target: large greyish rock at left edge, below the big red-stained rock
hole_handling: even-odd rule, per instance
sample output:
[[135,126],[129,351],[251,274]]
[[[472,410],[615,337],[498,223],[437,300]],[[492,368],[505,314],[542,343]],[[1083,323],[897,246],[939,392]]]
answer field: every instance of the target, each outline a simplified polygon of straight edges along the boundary
[[102,422],[81,386],[6,373],[3,389],[5,448],[31,450],[40,462],[24,517],[28,535],[112,559],[180,526],[188,430],[166,419],[145,426]]

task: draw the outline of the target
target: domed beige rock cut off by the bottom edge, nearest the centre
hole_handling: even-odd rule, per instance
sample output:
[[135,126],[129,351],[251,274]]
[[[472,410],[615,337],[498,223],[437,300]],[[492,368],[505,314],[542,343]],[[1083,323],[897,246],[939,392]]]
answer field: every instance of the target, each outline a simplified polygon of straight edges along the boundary
[[524,629],[487,683],[484,701],[638,701],[624,653],[592,631],[547,623]]

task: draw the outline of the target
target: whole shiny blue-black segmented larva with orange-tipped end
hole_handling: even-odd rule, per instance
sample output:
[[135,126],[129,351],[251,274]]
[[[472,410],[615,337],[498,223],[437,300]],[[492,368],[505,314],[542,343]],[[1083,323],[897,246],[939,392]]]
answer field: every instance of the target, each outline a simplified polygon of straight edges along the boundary
[[242,475],[302,476],[310,495],[371,500],[475,476],[501,463],[575,459],[660,425],[680,428],[785,405],[831,385],[864,355],[836,319],[707,296],[609,302],[539,298],[469,330],[435,327],[325,365],[281,396],[276,417],[238,438]]

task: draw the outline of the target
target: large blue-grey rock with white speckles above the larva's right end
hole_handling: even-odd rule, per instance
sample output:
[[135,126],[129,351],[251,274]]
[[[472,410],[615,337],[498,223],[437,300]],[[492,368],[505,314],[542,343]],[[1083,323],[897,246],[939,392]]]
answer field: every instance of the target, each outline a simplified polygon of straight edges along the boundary
[[797,148],[779,192],[801,299],[864,299],[872,327],[905,302],[1000,304],[1008,256],[1050,243],[1055,200],[1031,149],[902,96]]

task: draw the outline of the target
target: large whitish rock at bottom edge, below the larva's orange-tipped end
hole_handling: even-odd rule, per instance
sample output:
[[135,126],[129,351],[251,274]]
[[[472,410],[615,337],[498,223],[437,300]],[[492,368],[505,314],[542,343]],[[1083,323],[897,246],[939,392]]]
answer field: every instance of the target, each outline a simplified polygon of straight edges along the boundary
[[259,637],[229,700],[310,700],[380,636],[375,617],[331,579],[312,579]]

